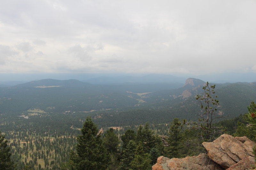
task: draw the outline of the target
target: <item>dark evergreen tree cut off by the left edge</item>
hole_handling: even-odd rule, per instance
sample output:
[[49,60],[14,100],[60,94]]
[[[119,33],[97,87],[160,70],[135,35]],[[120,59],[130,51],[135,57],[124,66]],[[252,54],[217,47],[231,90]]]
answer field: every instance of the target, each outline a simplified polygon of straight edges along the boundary
[[14,164],[11,161],[10,147],[7,144],[7,140],[4,140],[4,135],[0,131],[0,167],[1,170],[12,170],[14,169]]

